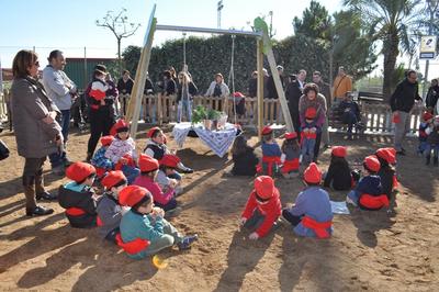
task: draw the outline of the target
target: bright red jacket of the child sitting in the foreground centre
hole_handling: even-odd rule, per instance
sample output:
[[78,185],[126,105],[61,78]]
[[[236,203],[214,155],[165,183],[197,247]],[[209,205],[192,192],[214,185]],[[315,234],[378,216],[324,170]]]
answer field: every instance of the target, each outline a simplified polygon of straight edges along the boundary
[[259,237],[263,237],[270,232],[271,226],[273,226],[273,223],[279,218],[282,213],[282,204],[279,190],[274,188],[273,196],[266,204],[261,204],[256,200],[256,191],[252,190],[250,198],[248,198],[246,209],[244,210],[241,217],[245,217],[247,220],[250,218],[256,209],[258,209],[259,212],[266,216],[263,223],[256,231]]

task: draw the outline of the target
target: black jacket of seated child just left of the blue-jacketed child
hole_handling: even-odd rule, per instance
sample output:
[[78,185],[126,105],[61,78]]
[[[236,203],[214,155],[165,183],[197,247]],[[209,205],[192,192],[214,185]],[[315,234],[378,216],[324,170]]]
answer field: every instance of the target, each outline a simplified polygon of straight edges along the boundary
[[351,169],[348,162],[339,161],[329,165],[325,177],[325,187],[333,187],[336,191],[347,191],[352,188]]

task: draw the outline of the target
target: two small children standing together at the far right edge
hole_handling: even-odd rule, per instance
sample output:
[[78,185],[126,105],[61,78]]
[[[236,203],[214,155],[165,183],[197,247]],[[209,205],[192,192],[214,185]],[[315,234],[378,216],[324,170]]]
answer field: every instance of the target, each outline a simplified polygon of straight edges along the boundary
[[439,166],[439,115],[432,115],[430,111],[423,113],[423,120],[419,124],[419,146],[418,154],[424,155],[426,165],[431,162],[432,150],[432,165]]

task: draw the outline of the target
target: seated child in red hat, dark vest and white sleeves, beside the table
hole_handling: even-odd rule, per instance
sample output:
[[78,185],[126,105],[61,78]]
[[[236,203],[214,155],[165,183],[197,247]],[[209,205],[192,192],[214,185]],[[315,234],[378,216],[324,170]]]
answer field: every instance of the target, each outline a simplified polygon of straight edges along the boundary
[[[151,127],[147,133],[147,137],[148,139],[146,141],[146,147],[144,149],[144,153],[147,156],[157,159],[160,164],[164,155],[172,154],[166,146],[166,136],[164,132],[158,126]],[[185,167],[181,161],[179,162],[178,168],[184,173],[193,172],[193,169]],[[175,173],[173,178],[181,180],[181,176],[178,172]]]

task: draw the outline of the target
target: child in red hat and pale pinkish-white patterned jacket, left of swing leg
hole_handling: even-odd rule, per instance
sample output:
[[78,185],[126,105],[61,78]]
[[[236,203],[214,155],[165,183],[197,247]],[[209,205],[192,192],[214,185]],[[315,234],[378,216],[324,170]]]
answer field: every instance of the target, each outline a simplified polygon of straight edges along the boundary
[[128,184],[131,184],[140,173],[138,168],[135,167],[135,162],[133,164],[137,159],[136,145],[134,139],[130,137],[130,125],[124,120],[119,120],[114,125],[114,130],[116,135],[106,149],[105,157],[115,164],[115,169],[124,172]]

